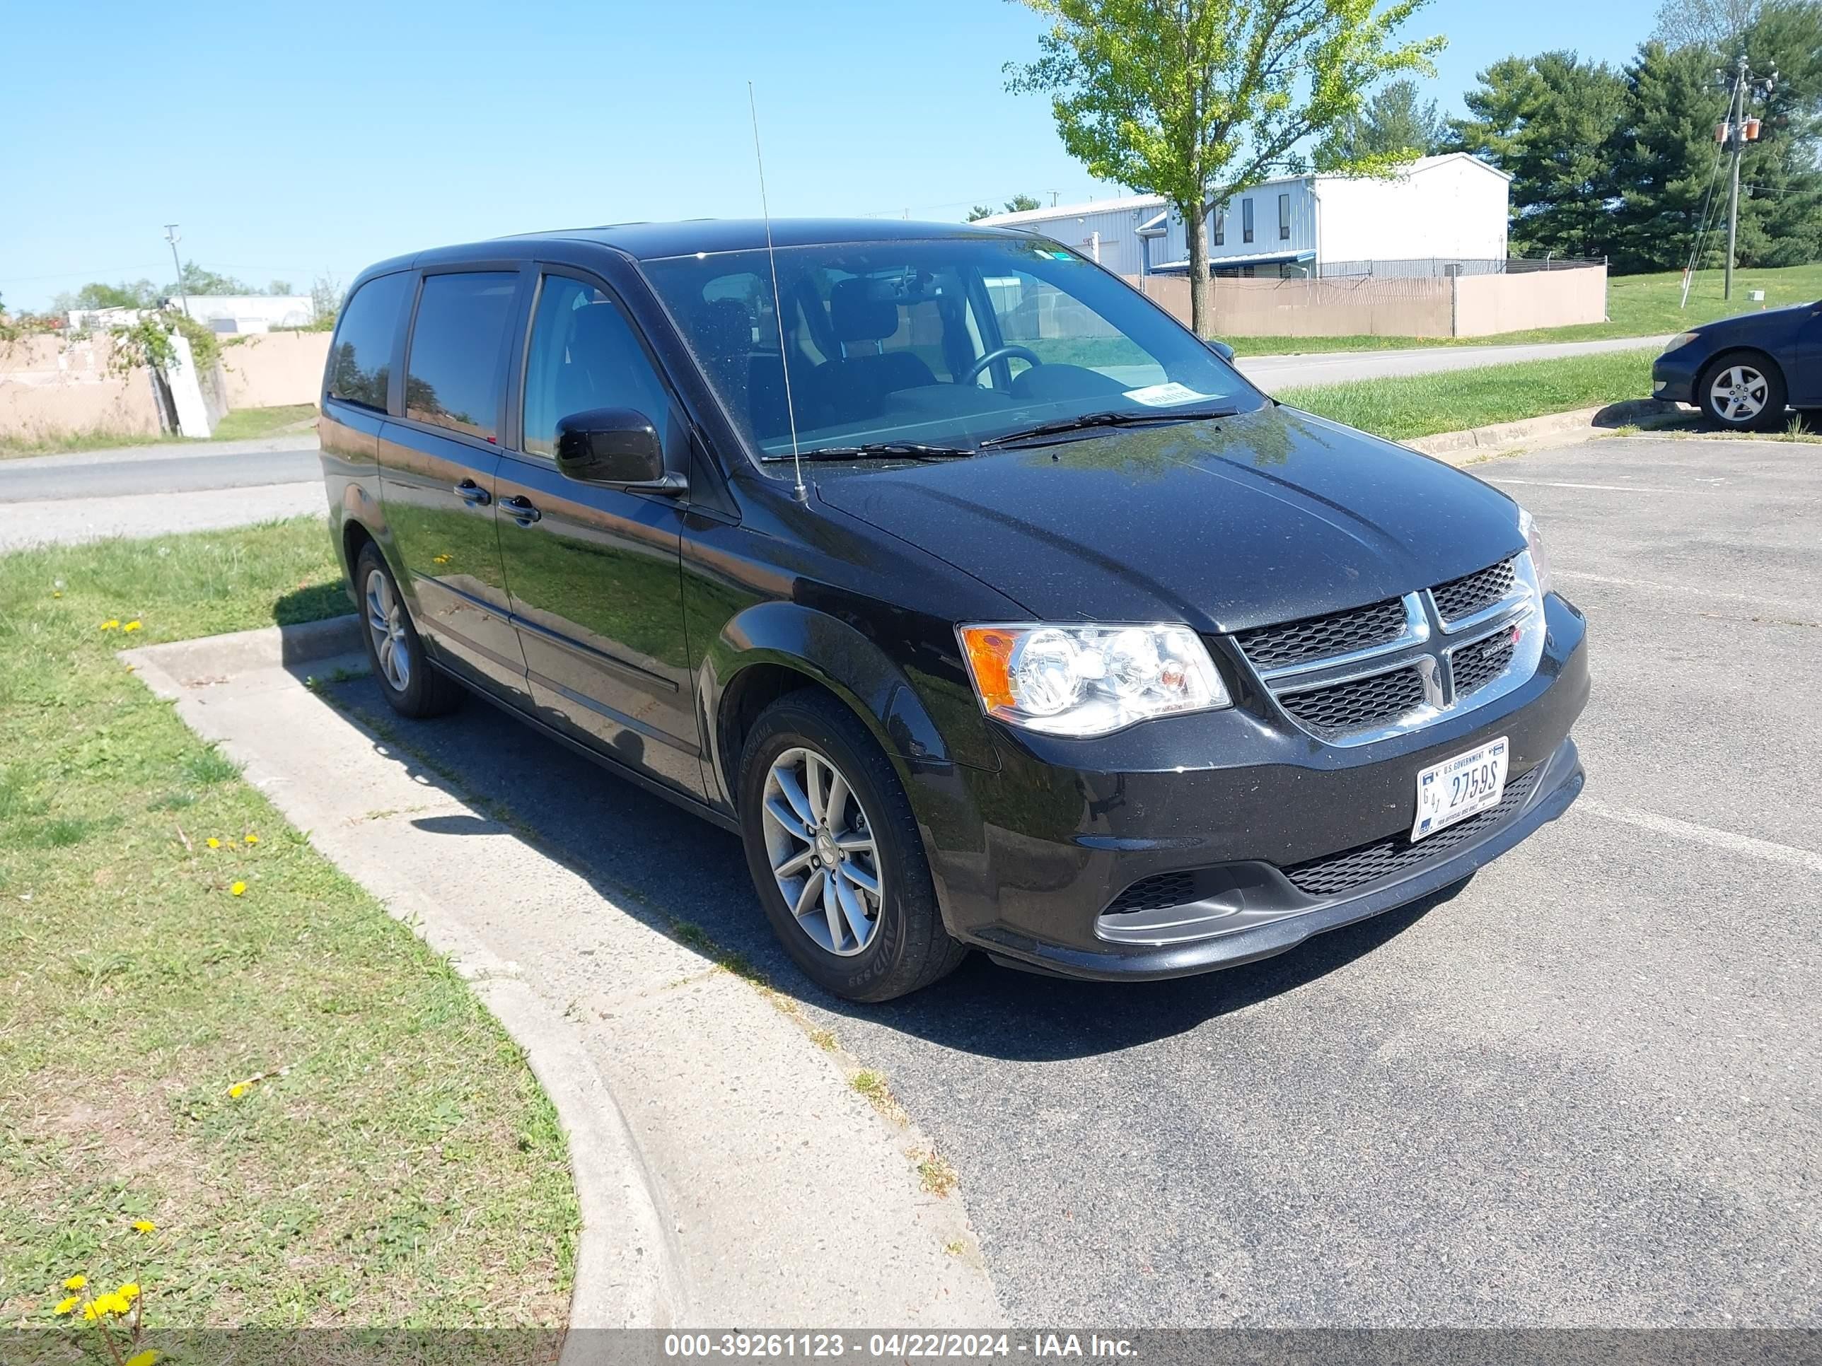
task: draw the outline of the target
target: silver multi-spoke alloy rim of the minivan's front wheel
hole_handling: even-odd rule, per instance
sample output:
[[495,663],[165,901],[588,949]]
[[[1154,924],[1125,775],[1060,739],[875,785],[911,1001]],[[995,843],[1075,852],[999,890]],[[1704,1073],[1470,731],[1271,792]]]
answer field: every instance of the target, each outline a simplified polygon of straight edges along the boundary
[[765,774],[765,852],[798,927],[849,958],[880,925],[885,892],[873,821],[842,770],[811,749],[787,749]]

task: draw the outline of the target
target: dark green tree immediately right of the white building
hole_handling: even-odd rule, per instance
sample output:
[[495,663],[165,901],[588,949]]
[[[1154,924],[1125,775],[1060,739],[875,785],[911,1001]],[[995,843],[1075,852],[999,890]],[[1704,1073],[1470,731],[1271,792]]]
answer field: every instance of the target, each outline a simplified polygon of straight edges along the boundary
[[1612,231],[1614,158],[1629,118],[1625,78],[1574,53],[1507,56],[1465,97],[1452,146],[1512,175],[1512,246],[1598,257]]

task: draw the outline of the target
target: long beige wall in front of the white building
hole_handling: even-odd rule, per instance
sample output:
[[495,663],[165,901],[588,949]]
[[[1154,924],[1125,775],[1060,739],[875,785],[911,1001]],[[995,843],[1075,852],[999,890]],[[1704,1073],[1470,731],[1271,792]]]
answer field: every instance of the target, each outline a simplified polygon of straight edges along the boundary
[[[1128,284],[1190,321],[1182,275]],[[1490,337],[1600,322],[1607,268],[1447,279],[1210,280],[1217,337]]]

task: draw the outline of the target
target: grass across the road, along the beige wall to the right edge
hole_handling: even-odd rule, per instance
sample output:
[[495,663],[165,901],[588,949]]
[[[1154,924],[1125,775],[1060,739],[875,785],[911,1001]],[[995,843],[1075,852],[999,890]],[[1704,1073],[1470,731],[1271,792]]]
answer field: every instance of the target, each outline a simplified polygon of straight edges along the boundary
[[[1747,301],[1753,290],[1766,291],[1766,302]],[[1733,299],[1722,299],[1722,273],[1696,275],[1689,290],[1689,308],[1678,308],[1684,291],[1682,271],[1662,275],[1618,275],[1607,280],[1607,322],[1574,328],[1534,328],[1503,331],[1496,337],[1226,337],[1223,341],[1244,355],[1295,355],[1308,352],[1387,352],[1412,346],[1510,346],[1518,342],[1598,341],[1602,337],[1660,337],[1684,331],[1698,322],[1715,322],[1758,308],[1807,304],[1822,299],[1822,262],[1780,270],[1736,270]]]

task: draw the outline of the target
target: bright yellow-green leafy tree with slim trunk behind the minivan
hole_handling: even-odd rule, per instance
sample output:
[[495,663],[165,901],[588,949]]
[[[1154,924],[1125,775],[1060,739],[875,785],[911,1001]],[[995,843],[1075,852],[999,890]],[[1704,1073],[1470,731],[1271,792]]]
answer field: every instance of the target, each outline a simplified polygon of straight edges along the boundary
[[[1070,155],[1100,180],[1162,195],[1190,239],[1190,321],[1210,328],[1208,239],[1219,204],[1277,173],[1359,111],[1361,91],[1434,75],[1443,38],[1397,42],[1425,0],[1024,0],[1051,27],[1008,87],[1048,93]],[[1377,13],[1376,13],[1377,11]],[[1408,160],[1325,149],[1321,169],[1387,175]]]

